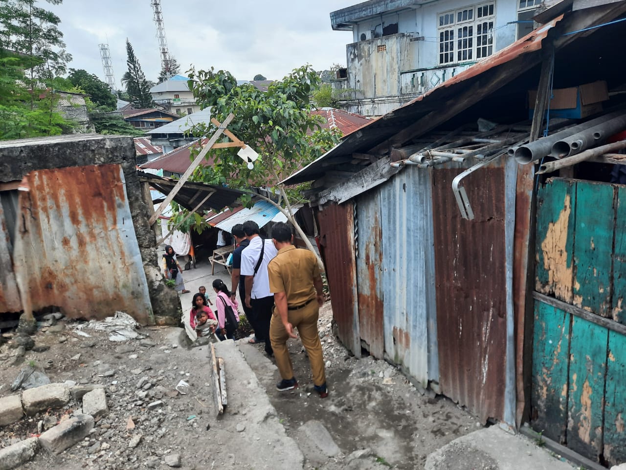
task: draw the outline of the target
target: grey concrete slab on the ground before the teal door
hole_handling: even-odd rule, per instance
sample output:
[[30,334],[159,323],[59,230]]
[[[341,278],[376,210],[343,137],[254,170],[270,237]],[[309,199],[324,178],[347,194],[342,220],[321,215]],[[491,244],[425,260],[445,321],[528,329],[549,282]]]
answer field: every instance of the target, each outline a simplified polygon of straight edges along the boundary
[[498,426],[472,432],[441,447],[426,459],[426,470],[572,470],[527,437]]

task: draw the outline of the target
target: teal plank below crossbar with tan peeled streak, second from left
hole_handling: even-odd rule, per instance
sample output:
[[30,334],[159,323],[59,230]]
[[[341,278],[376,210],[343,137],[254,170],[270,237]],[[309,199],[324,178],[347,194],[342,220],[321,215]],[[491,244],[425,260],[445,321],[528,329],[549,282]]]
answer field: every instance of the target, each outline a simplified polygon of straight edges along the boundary
[[567,446],[592,460],[602,452],[608,330],[574,316],[570,340]]

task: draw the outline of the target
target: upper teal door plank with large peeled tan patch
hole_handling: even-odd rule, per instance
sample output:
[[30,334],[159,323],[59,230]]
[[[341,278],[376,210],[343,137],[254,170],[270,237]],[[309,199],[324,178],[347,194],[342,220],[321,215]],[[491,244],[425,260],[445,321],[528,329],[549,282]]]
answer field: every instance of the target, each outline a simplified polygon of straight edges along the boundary
[[535,290],[572,303],[576,183],[549,179],[537,196]]

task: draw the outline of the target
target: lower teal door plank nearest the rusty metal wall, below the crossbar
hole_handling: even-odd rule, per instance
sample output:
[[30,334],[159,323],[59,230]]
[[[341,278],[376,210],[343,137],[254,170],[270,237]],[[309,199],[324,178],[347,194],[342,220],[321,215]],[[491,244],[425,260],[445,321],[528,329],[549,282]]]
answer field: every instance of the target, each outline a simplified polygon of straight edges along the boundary
[[565,442],[568,352],[572,316],[535,300],[531,403],[533,428]]

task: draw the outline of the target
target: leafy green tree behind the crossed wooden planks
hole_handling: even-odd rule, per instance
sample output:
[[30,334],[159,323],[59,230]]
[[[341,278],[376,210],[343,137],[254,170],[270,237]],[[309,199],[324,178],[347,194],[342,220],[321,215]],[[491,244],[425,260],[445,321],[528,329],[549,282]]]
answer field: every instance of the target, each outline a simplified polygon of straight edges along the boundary
[[[322,128],[322,118],[312,114],[315,107],[310,93],[319,83],[317,73],[308,65],[302,66],[282,81],[274,81],[265,92],[250,84],[237,85],[230,72],[215,72],[213,68],[192,69],[189,77],[189,88],[200,106],[210,108],[220,122],[233,113],[235,118],[228,125],[229,130],[260,155],[254,169],[248,169],[237,156],[237,150],[214,150],[213,166],[201,165],[195,170],[194,178],[247,191],[244,202],[255,195],[251,186],[267,188],[275,199],[261,197],[279,207],[308,244],[292,211],[292,202],[302,201],[302,193],[299,188],[287,188],[280,181],[331,149],[339,140],[337,132]],[[206,135],[213,130],[200,125],[196,132]],[[308,246],[313,251],[312,246]]]

